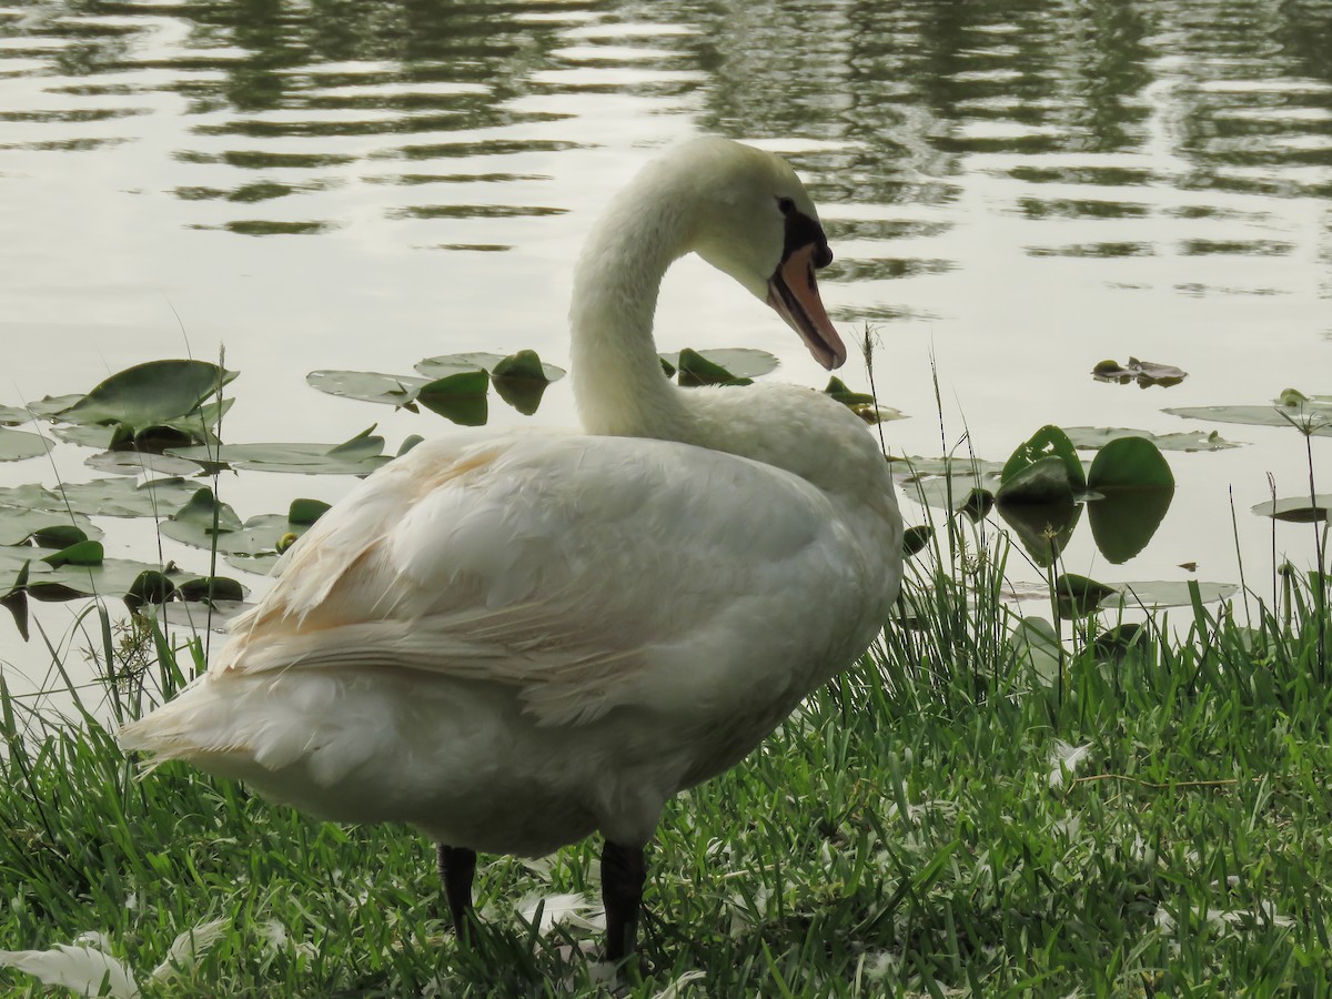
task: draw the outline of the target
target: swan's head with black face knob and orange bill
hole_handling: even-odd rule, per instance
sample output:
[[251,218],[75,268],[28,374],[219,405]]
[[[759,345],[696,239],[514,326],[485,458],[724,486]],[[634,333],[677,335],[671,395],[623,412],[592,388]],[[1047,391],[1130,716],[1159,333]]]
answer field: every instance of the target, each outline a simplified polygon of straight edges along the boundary
[[698,139],[677,155],[694,198],[694,252],[767,302],[815,361],[842,366],[846,346],[814,277],[832,250],[791,165],[729,139]]

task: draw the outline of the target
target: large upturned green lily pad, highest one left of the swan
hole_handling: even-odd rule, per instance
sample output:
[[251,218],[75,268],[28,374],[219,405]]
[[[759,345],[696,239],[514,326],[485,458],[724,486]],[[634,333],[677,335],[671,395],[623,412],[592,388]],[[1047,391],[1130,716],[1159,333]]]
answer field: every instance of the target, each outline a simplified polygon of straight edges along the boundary
[[198,409],[234,377],[208,361],[148,361],[111,376],[57,416],[71,424],[161,425]]

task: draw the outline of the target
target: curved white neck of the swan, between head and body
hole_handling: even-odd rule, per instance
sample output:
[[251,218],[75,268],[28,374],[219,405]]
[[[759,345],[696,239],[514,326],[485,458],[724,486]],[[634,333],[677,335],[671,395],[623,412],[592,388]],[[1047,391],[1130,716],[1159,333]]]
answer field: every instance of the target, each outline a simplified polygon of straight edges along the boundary
[[689,252],[686,200],[649,169],[614,198],[574,272],[574,400],[583,429],[614,437],[685,441],[693,420],[662,373],[653,314],[666,269]]

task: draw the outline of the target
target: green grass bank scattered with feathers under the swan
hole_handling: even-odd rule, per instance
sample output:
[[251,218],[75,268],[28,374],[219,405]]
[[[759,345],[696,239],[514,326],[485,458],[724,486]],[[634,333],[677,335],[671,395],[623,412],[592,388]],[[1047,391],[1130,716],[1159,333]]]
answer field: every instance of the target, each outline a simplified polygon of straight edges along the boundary
[[[1311,583],[1127,643],[1079,625],[1042,675],[1010,638],[1002,549],[934,554],[884,646],[667,809],[651,971],[619,994],[1332,994],[1332,629]],[[197,654],[159,651],[144,682],[169,691]],[[318,823],[184,766],[141,777],[92,714],[3,690],[0,709],[0,948],[97,931],[149,996],[605,991],[599,934],[515,914],[595,898],[595,843],[482,858],[488,930],[462,952],[413,831]],[[1052,781],[1060,743],[1088,749]],[[201,959],[149,978],[210,920]],[[0,970],[5,995],[44,991]]]

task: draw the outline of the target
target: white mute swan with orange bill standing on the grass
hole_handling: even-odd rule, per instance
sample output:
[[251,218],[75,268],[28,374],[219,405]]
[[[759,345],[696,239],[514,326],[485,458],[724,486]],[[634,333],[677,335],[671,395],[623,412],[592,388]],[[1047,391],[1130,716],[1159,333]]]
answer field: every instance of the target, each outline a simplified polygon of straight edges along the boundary
[[583,433],[421,444],[282,558],[208,673],[120,742],[342,822],[440,843],[454,924],[476,851],[605,836],[606,954],[635,947],[643,847],[874,639],[902,522],[864,425],[787,385],[677,389],[658,285],[697,252],[846,360],[832,258],[779,157],[694,140],[610,204],[578,262]]

